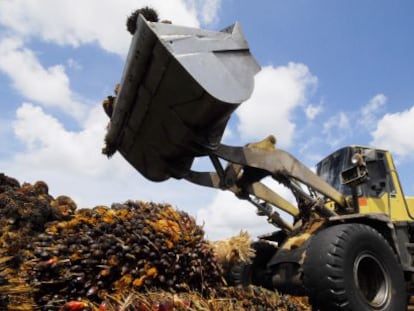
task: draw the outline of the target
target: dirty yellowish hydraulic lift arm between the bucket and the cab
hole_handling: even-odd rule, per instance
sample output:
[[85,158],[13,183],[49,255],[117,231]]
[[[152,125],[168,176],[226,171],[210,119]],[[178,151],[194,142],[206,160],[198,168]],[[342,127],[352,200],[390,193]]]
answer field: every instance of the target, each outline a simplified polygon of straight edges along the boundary
[[[202,186],[229,190],[256,206],[259,199],[263,201],[262,207],[270,204],[296,218],[301,217],[301,213],[306,215],[311,211],[322,217],[336,215],[324,205],[323,197],[329,198],[341,207],[346,206],[346,200],[341,193],[292,155],[276,149],[272,143],[274,141],[275,139],[270,136],[262,142],[245,147],[219,145],[209,155],[215,172],[189,171],[185,178]],[[225,168],[219,159],[228,161]],[[267,176],[289,188],[298,201],[299,208],[263,184],[261,180]],[[307,186],[310,191],[304,191],[300,183]],[[260,210],[260,206],[258,208]],[[277,213],[273,212],[270,215],[268,216],[271,222],[284,230],[292,229],[292,226],[278,217]]]

